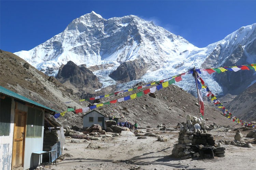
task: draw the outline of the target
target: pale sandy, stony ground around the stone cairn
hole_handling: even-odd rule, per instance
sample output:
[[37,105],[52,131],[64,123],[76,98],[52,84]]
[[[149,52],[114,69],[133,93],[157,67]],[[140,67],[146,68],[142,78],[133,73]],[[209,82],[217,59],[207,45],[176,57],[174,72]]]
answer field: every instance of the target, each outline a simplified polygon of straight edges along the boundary
[[[241,128],[241,125],[230,127],[232,130],[229,132],[223,132],[224,127],[221,126],[208,133],[211,133],[216,141],[234,140],[235,128]],[[167,142],[157,141],[157,137],[150,136],[146,136],[145,139],[122,135],[111,137],[113,133],[109,132],[106,135],[100,135],[98,137],[100,140],[90,140],[90,145],[88,141],[67,137],[66,149],[63,152],[65,158],[61,162],[58,161],[57,166],[53,165],[51,168],[55,170],[240,170],[252,169],[256,162],[255,144],[252,144],[253,148],[223,144],[222,146],[226,148],[225,157],[215,157],[214,159],[181,160],[174,158],[171,156],[171,151],[173,144],[177,143],[179,131],[160,131],[159,129],[139,130],[164,136],[168,139]],[[251,131],[250,128],[248,131],[240,130],[243,136]],[[110,137],[104,137],[107,135]],[[245,142],[253,141],[252,138],[244,139]],[[90,146],[92,147],[90,148]]]

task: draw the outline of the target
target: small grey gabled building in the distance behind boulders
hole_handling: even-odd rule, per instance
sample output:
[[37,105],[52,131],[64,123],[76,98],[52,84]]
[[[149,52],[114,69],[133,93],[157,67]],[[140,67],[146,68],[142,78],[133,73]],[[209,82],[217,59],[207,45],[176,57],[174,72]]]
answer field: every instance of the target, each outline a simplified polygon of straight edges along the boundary
[[[112,118],[93,110],[83,116],[83,127],[87,128],[92,124],[99,124],[102,128],[106,128],[105,120],[112,120]],[[114,118],[114,121],[116,121],[117,124],[118,117]]]

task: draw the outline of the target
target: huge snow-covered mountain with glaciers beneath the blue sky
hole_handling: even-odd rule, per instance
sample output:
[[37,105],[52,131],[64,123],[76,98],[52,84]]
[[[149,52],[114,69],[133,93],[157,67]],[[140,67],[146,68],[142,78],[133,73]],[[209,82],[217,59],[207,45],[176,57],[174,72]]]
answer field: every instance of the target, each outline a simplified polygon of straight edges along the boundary
[[[74,19],[63,32],[43,44],[15,54],[48,75],[56,75],[58,68],[68,61],[76,65],[86,64],[87,67],[107,64],[109,67],[96,70],[94,74],[102,87],[116,84],[116,80],[120,79],[125,80],[123,82],[131,81],[117,86],[122,89],[139,81],[168,78],[194,66],[209,68],[255,63],[255,37],[256,24],[252,24],[240,28],[221,41],[198,48],[183,37],[137,16],[106,20],[91,12]],[[131,69],[134,67],[141,68]],[[125,70],[129,72],[122,72]],[[115,74],[109,77],[112,72]],[[120,74],[126,77],[119,76]],[[249,74],[251,77],[247,84],[256,79],[252,71]],[[224,83],[216,76],[206,75],[205,82],[215,93],[228,92],[223,88],[226,81]],[[179,82],[179,86],[186,90],[194,88],[190,75],[183,79],[186,81]]]

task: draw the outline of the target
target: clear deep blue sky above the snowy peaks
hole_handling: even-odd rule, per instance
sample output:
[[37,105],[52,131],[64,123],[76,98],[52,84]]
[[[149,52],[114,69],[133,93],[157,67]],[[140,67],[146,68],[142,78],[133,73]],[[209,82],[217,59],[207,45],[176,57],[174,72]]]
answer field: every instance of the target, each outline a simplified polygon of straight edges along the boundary
[[197,47],[256,22],[256,1],[0,1],[0,49],[30,50],[61,33],[75,18],[136,15]]

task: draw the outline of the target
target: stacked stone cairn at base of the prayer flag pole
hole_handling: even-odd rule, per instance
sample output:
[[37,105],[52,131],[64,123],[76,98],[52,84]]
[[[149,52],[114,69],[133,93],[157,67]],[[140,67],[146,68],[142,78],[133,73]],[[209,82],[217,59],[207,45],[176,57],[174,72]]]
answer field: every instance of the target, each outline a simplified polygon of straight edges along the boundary
[[172,155],[181,159],[225,156],[225,148],[217,147],[215,138],[205,130],[205,120],[190,115],[186,115],[186,124],[181,125],[178,143],[173,147]]

